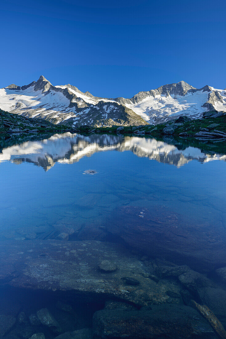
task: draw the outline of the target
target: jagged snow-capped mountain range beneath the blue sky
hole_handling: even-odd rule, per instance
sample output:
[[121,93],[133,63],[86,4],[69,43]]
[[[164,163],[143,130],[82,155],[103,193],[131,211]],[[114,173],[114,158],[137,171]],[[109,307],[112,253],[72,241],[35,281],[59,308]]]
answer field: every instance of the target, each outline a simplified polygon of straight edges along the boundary
[[139,92],[131,99],[94,97],[75,86],[53,86],[40,76],[29,85],[0,89],[0,108],[55,124],[128,126],[162,123],[180,115],[200,118],[206,111],[226,111],[226,89],[196,89],[184,81]]

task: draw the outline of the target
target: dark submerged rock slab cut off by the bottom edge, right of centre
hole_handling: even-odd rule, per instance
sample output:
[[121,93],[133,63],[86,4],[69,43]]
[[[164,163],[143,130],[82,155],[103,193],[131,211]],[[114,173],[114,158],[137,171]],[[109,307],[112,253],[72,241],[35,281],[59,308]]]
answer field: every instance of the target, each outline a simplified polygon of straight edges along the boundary
[[217,338],[207,321],[189,306],[153,305],[151,310],[102,310],[93,317],[94,338]]

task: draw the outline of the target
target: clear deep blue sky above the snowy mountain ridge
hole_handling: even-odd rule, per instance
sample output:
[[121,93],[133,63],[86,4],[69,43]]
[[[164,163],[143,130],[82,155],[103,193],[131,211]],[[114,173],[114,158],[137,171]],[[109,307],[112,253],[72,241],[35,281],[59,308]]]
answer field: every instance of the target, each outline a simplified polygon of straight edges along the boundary
[[101,97],[226,87],[224,1],[5,0],[0,87],[44,75]]

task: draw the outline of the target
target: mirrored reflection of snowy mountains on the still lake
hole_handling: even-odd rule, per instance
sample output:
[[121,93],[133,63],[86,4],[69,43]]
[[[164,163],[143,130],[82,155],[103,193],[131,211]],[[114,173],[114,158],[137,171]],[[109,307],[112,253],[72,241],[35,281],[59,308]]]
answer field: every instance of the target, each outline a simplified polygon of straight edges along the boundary
[[[168,141],[168,140],[167,140]],[[170,140],[171,141],[171,140]],[[181,146],[181,143],[179,142]],[[138,157],[180,167],[191,160],[205,163],[212,160],[226,160],[225,154],[201,151],[189,144],[180,149],[178,144],[158,141],[153,138],[130,137],[122,135],[80,135],[55,134],[43,140],[26,141],[17,145],[5,146],[0,153],[0,162],[30,162],[47,171],[55,163],[72,164],[83,157],[103,151],[131,151]]]

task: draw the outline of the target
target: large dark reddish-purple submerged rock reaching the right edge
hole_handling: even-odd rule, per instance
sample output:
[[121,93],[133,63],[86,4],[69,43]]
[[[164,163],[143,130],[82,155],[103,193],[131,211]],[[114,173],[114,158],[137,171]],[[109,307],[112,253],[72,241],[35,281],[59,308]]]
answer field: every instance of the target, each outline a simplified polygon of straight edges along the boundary
[[[189,225],[165,208],[117,208],[107,222],[110,233],[151,257],[165,257],[196,271],[211,271],[226,261],[223,225]],[[211,232],[210,232],[211,230]]]

